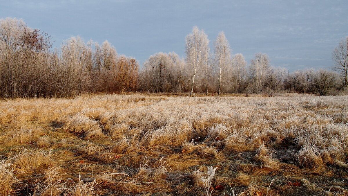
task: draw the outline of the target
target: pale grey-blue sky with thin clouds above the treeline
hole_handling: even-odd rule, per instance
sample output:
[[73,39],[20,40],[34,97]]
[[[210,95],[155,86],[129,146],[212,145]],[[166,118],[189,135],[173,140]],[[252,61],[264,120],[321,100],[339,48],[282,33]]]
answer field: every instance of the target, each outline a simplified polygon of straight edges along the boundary
[[22,18],[47,32],[53,47],[72,36],[102,43],[140,64],[157,52],[185,57],[185,37],[204,29],[211,51],[224,31],[232,53],[250,62],[267,53],[290,72],[330,68],[332,51],[348,36],[346,0],[0,0],[0,18]]

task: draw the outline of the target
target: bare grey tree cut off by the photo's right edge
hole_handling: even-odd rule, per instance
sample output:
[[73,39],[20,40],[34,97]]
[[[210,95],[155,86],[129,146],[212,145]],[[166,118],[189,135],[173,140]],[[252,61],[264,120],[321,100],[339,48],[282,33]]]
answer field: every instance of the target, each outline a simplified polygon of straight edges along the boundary
[[335,47],[332,58],[335,61],[333,69],[344,78],[344,88],[348,88],[348,36]]

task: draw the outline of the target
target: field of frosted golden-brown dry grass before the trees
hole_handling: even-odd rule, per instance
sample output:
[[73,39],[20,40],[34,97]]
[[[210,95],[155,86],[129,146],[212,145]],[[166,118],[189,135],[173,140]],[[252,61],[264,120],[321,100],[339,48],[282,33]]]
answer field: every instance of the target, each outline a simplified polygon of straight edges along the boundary
[[0,100],[0,195],[343,196],[347,144],[348,96]]

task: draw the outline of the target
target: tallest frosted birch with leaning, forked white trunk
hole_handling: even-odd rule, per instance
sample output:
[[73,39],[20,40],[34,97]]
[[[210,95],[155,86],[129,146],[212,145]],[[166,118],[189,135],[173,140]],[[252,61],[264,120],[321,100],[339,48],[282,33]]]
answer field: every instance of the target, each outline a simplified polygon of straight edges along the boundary
[[186,61],[191,68],[191,92],[193,93],[193,85],[197,74],[197,68],[204,63],[205,56],[209,51],[209,40],[204,30],[193,27],[192,33],[186,36]]

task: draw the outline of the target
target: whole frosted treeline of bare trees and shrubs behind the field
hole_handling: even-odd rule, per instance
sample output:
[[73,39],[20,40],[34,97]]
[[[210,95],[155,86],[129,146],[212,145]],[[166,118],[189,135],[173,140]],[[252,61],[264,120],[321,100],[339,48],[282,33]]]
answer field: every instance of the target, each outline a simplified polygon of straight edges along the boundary
[[247,63],[231,54],[220,32],[210,52],[206,33],[194,27],[186,37],[186,58],[156,53],[139,68],[132,57],[118,55],[80,37],[52,50],[50,36],[16,18],[0,19],[0,97],[71,97],[89,92],[298,92],[327,95],[347,88],[348,37],[333,52],[332,70],[303,69],[288,73],[270,66],[267,54]]

